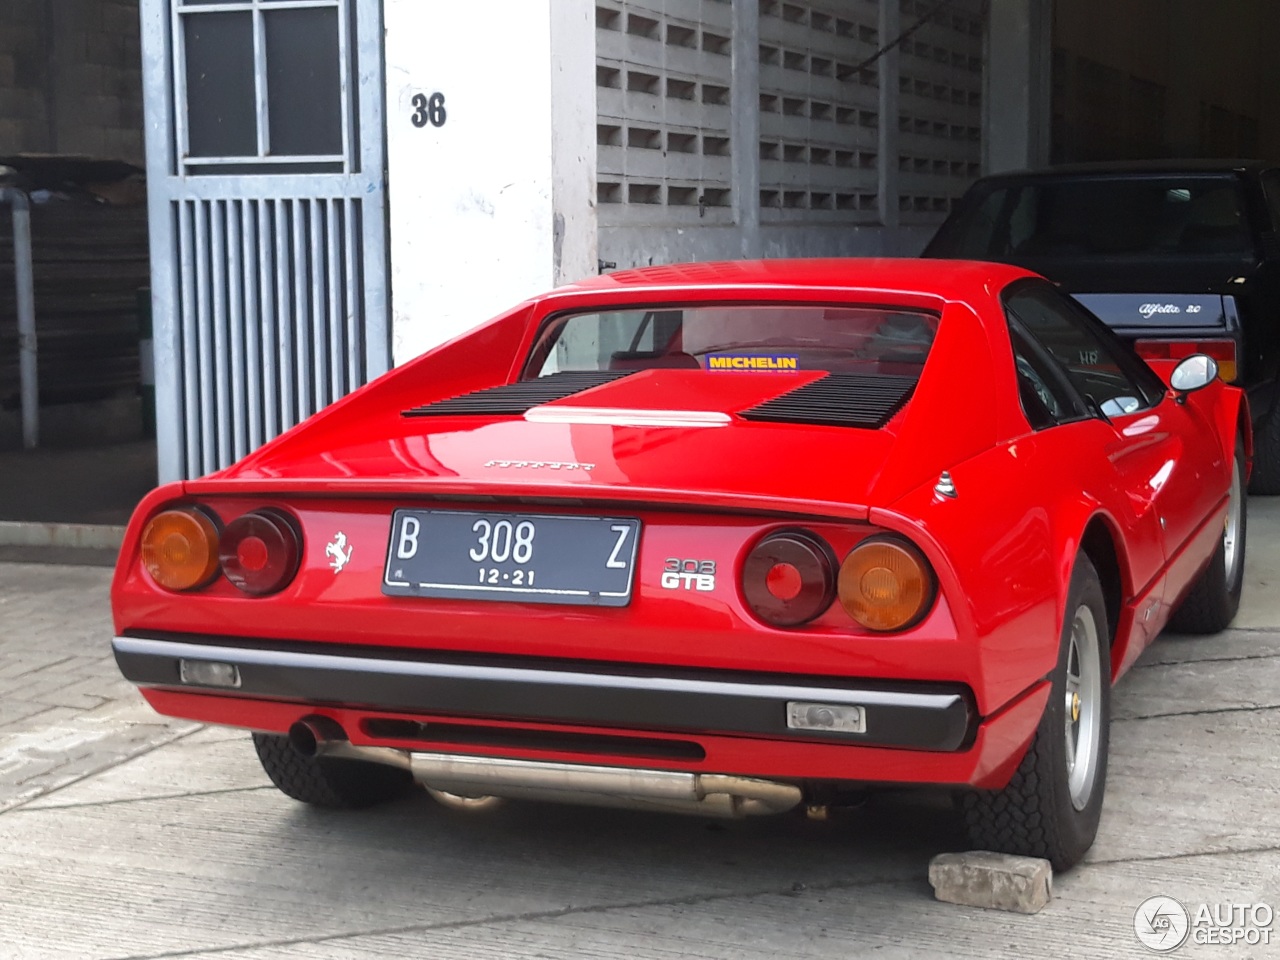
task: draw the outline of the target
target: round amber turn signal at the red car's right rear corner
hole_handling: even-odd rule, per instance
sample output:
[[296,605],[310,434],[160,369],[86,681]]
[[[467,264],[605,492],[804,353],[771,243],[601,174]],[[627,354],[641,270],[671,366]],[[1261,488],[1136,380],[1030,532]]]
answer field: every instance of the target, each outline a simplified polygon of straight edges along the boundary
[[841,564],[836,591],[845,612],[868,630],[902,630],[933,602],[933,572],[910,544],[864,540]]

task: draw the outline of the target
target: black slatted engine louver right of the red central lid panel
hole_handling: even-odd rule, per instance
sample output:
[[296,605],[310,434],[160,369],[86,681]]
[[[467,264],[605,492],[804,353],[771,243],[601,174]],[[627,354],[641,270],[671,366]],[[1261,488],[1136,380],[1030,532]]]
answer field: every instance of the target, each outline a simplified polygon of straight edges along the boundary
[[744,420],[879,429],[902,408],[914,376],[828,374],[804,387],[744,410]]

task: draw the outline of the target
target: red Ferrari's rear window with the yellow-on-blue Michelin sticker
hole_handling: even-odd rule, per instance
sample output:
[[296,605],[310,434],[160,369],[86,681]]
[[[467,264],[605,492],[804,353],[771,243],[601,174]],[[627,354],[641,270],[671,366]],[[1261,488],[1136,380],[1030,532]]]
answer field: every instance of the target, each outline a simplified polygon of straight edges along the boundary
[[709,374],[918,376],[938,317],[891,307],[696,306],[554,317],[526,378],[577,370],[684,367]]

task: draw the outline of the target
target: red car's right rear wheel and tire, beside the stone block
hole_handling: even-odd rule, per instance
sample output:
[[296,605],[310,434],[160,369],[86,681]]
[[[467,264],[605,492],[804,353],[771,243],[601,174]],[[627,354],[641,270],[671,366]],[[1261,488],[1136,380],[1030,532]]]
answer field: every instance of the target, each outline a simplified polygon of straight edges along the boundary
[[1082,554],[1071,572],[1048,703],[1027,755],[1004,790],[963,797],[975,849],[1038,856],[1066,870],[1093,845],[1107,781],[1110,637],[1102,585]]

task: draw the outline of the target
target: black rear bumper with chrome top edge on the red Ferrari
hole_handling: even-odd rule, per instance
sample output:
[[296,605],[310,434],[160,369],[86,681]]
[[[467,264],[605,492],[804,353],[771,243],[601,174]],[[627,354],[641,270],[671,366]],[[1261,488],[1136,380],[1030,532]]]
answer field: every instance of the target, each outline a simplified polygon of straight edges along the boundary
[[[678,671],[671,675],[604,673],[554,668],[547,662],[536,667],[494,666],[456,658],[317,653],[288,649],[275,641],[270,646],[268,641],[255,646],[239,643],[224,645],[218,637],[200,643],[115,637],[111,646],[125,678],[140,686],[388,712],[938,751],[968,746],[974,718],[969,691],[960,685],[796,682],[777,676],[742,681],[717,678],[712,671],[685,676]],[[178,671],[183,659],[233,663],[239,669],[241,684],[234,690],[184,685]],[[861,707],[867,732],[790,730],[788,700]]]

